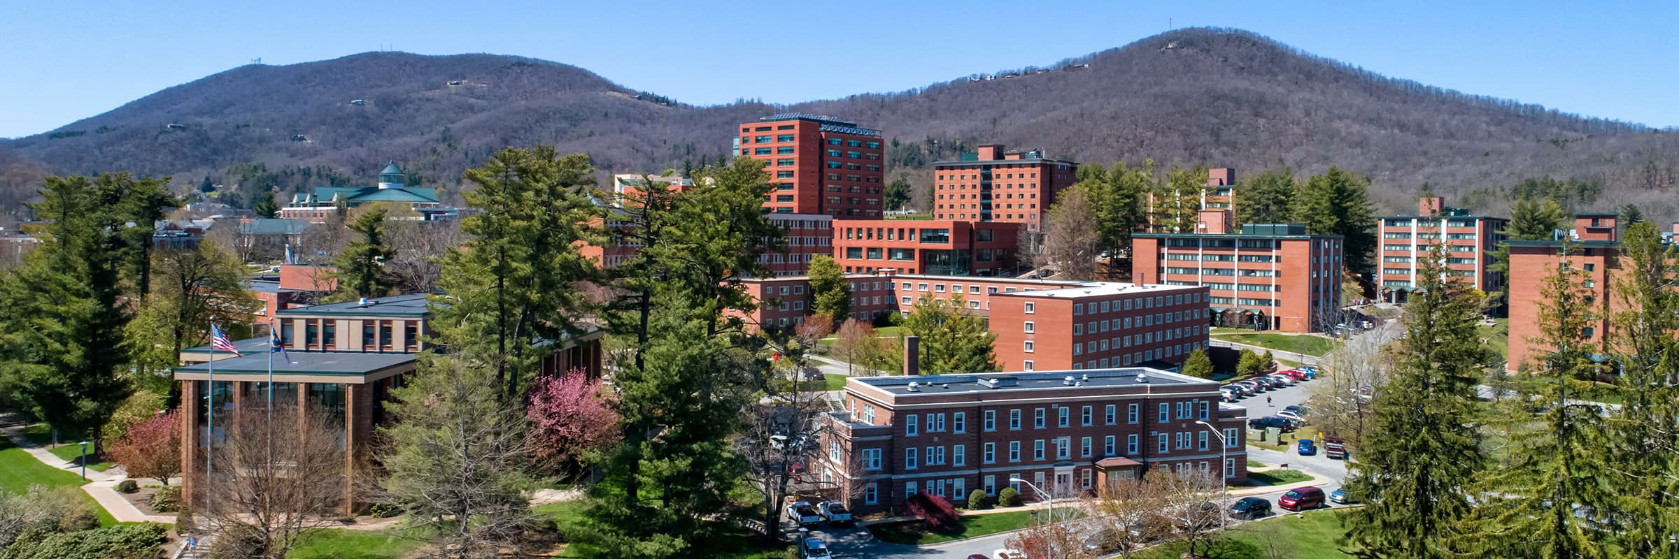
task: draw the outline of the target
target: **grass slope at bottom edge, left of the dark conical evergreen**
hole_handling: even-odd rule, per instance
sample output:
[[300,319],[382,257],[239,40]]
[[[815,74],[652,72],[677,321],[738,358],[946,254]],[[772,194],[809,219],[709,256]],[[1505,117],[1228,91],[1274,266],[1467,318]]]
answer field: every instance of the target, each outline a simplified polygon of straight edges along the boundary
[[[1284,514],[1278,519],[1247,522],[1231,529],[1227,537],[1219,539],[1211,547],[1197,546],[1207,559],[1263,559],[1271,557],[1263,547],[1268,541],[1278,542],[1279,556],[1295,559],[1343,559],[1352,557],[1340,552],[1335,539],[1345,534],[1340,510],[1316,510],[1301,515]],[[1177,559],[1185,551],[1182,542],[1172,542],[1148,549],[1138,557],[1143,559]]]

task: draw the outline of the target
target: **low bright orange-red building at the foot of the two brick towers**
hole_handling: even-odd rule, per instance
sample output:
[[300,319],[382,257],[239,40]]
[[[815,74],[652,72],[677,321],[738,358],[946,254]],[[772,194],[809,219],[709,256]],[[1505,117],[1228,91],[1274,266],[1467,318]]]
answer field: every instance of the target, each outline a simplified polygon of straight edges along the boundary
[[1019,232],[1019,223],[846,220],[834,223],[833,255],[851,274],[1006,275]]

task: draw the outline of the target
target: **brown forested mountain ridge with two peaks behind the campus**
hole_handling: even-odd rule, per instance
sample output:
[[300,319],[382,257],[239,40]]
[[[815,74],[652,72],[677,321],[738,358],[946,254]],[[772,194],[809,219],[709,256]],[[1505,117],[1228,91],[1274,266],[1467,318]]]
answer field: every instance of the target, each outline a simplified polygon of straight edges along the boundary
[[[1177,30],[1043,71],[991,76],[786,107],[693,107],[578,67],[507,55],[371,52],[245,65],[0,143],[22,158],[0,170],[0,188],[20,188],[7,180],[27,176],[18,170],[32,163],[57,173],[173,175],[181,188],[205,178],[248,181],[262,163],[259,176],[292,180],[260,181],[290,190],[324,171],[368,180],[386,159],[450,188],[492,151],[532,143],[586,151],[603,171],[660,171],[724,154],[735,123],[803,111],[881,129],[893,141],[892,173],[917,186],[927,183],[928,161],[1006,143],[1078,161],[1153,158],[1242,175],[1338,165],[1370,175],[1389,212],[1412,208],[1424,185],[1501,212],[1513,185],[1553,176],[1598,185],[1578,208],[1640,203],[1655,220],[1679,217],[1674,131],[1389,79],[1247,32]],[[237,185],[247,196],[255,186]],[[0,201],[15,198],[7,196]]]

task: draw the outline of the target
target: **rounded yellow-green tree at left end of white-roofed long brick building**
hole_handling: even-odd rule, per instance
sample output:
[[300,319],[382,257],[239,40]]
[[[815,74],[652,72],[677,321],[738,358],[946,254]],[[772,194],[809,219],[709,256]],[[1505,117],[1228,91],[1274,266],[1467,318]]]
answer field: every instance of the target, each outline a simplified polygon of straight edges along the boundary
[[922,374],[984,373],[997,369],[991,342],[997,339],[986,319],[967,311],[962,295],[922,295],[903,319],[903,334],[920,337]]

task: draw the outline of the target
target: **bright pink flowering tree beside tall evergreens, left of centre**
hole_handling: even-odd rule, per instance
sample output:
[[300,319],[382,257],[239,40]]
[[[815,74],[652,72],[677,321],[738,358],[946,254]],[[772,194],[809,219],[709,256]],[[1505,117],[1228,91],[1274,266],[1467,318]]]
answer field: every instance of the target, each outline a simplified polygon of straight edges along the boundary
[[583,473],[588,453],[620,436],[618,411],[601,394],[601,381],[583,369],[537,378],[526,415],[537,465],[561,478]]

